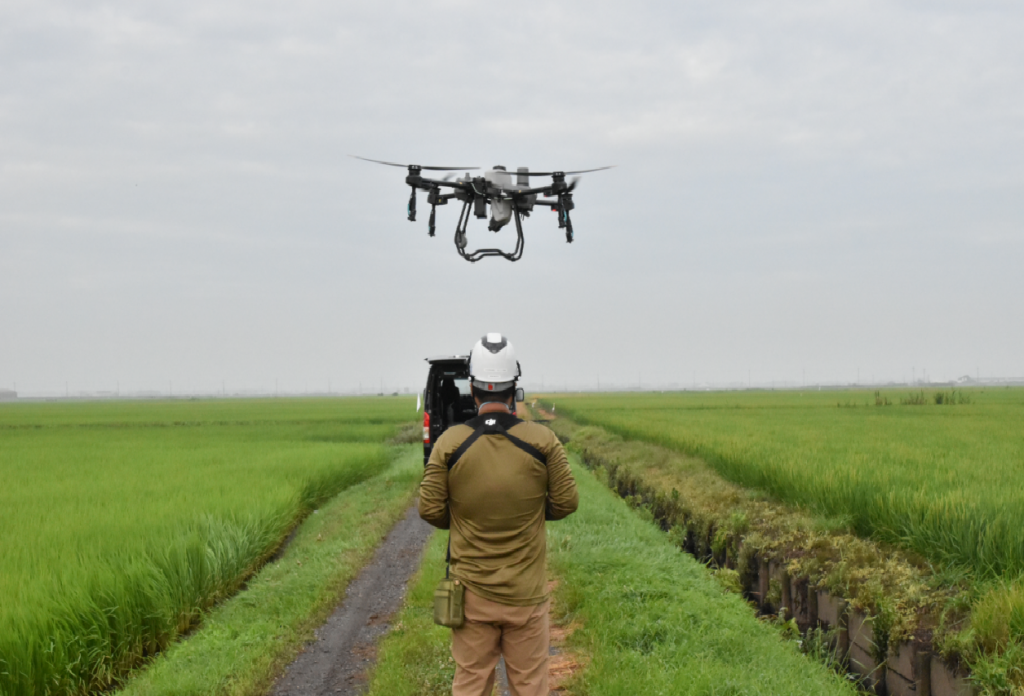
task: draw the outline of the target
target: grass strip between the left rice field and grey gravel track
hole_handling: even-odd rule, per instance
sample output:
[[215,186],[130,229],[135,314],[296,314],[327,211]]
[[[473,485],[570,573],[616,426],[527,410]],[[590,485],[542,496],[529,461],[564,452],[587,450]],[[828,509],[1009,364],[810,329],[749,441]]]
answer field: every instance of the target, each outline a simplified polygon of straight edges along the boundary
[[416,493],[415,445],[310,515],[285,554],[213,608],[186,640],[134,672],[121,696],[263,694],[331,613]]

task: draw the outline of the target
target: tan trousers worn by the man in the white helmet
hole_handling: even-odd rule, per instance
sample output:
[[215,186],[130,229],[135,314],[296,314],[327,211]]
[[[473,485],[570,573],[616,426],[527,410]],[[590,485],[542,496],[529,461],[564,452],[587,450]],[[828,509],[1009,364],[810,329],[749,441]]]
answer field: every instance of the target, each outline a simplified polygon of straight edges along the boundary
[[453,696],[490,696],[498,657],[512,696],[548,696],[548,602],[510,607],[466,591],[466,622],[452,630]]

